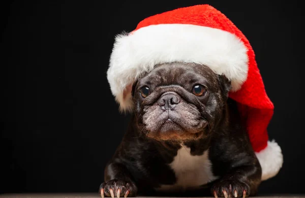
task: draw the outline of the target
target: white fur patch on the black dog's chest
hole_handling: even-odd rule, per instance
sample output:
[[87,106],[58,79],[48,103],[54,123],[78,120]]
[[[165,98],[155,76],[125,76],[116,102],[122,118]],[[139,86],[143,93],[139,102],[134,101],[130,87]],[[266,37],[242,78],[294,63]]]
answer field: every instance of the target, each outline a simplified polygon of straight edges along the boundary
[[174,160],[169,164],[176,176],[174,185],[161,185],[160,191],[180,191],[186,188],[196,188],[200,185],[216,180],[211,171],[208,150],[202,155],[191,155],[191,149],[182,145]]

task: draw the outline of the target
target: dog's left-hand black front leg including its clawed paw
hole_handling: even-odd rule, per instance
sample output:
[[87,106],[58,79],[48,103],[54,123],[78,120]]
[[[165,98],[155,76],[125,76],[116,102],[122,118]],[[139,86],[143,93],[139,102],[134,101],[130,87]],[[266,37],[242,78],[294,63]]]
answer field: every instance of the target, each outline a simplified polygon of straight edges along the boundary
[[123,163],[110,162],[105,169],[105,182],[100,186],[101,196],[136,196],[137,186]]

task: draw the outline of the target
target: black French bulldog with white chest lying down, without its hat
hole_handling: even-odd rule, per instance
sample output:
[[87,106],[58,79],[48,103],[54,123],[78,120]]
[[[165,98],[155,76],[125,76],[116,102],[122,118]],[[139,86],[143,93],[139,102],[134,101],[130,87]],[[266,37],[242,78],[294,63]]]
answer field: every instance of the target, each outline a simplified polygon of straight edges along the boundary
[[162,63],[141,75],[101,196],[256,195],[262,171],[230,89],[226,77],[196,63]]

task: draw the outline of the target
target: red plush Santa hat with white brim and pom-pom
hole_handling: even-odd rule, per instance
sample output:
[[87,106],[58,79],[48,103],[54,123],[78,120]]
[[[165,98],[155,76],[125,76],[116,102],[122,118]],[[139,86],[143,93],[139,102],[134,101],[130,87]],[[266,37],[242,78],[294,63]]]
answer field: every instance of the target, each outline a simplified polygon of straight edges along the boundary
[[229,97],[245,119],[252,147],[262,167],[262,180],[278,174],[283,155],[268,140],[273,104],[266,94],[254,51],[242,32],[209,5],[179,8],[142,20],[129,34],[116,36],[107,79],[120,109],[133,107],[131,85],[143,72],[164,62],[207,65],[231,80]]

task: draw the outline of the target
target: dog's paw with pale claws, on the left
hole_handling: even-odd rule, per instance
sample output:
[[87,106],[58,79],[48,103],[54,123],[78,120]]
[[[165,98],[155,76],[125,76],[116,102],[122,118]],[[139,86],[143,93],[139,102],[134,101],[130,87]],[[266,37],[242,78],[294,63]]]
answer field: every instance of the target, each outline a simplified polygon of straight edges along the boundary
[[100,186],[100,194],[102,197],[127,197],[136,196],[137,187],[132,182],[113,179],[108,182],[102,183]]

